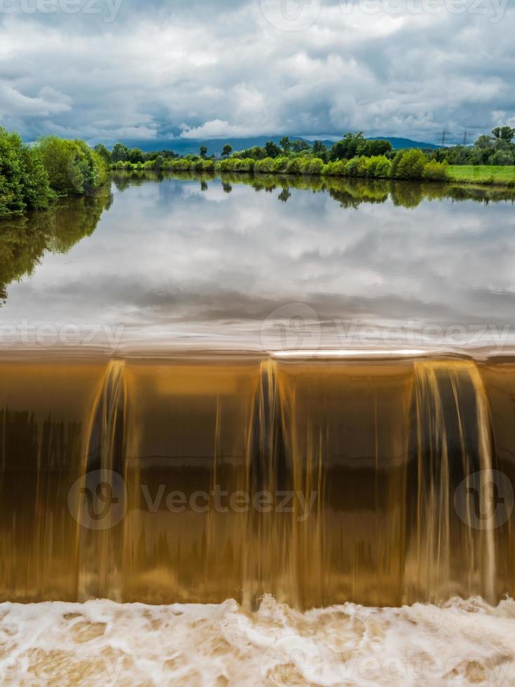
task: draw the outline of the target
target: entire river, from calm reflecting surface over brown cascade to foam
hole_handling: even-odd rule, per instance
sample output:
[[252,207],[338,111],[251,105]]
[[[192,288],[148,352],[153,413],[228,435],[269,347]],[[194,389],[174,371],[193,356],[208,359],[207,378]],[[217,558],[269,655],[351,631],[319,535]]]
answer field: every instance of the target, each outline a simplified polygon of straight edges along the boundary
[[512,191],[114,182],[0,225],[0,683],[515,684]]

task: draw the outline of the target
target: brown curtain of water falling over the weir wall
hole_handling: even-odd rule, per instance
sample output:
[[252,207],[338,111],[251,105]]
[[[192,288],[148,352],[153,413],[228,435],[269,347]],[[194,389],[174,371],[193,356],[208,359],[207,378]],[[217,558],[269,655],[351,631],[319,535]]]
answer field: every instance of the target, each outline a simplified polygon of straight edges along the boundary
[[0,597],[514,593],[515,363],[0,363]]

